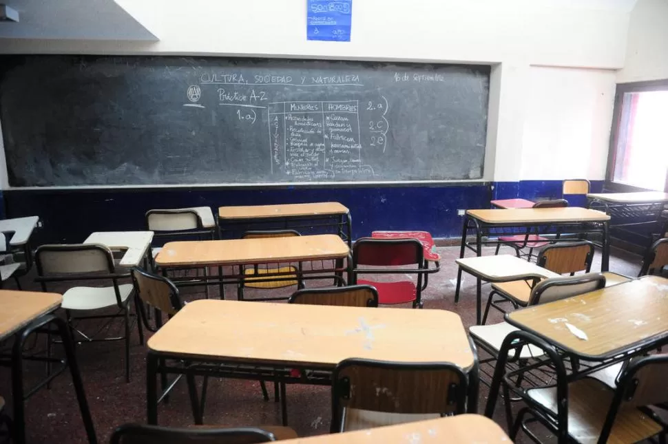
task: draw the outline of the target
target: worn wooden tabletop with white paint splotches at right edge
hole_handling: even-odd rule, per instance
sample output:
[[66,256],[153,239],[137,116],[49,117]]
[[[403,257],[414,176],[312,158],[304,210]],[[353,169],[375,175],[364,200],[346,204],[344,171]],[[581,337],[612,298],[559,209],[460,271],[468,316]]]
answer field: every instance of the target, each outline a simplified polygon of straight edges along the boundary
[[[668,279],[649,276],[561,301],[508,313],[506,320],[548,342],[594,360],[651,337],[668,335]],[[587,335],[578,339],[565,325]]]

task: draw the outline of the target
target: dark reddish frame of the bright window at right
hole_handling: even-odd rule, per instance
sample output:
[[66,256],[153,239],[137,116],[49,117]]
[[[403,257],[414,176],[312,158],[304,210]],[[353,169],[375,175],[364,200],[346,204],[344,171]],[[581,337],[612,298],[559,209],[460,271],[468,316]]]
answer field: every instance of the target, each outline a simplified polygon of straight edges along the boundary
[[[607,154],[607,166],[605,168],[605,189],[618,193],[630,193],[633,191],[646,191],[645,188],[635,187],[634,185],[623,184],[614,181],[614,166],[617,149],[617,138],[619,135],[619,124],[622,112],[622,101],[627,92],[649,92],[649,91],[668,91],[668,78],[662,80],[618,83],[615,91],[614,111],[612,112],[612,127],[610,129],[610,143]],[[668,143],[668,142],[667,142]],[[668,193],[668,174],[663,191]]]

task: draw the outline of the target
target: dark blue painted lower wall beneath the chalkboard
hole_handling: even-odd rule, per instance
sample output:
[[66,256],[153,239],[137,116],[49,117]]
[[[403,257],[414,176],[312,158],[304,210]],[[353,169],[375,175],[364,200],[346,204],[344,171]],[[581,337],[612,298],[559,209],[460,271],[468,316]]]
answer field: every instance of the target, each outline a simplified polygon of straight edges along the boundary
[[[592,182],[600,191],[603,181]],[[351,210],[353,237],[373,230],[426,230],[459,237],[458,209],[489,208],[493,198],[561,198],[561,180],[401,187],[281,187],[8,190],[6,216],[39,215],[35,244],[82,242],[93,231],[140,230],[149,209],[337,201]]]

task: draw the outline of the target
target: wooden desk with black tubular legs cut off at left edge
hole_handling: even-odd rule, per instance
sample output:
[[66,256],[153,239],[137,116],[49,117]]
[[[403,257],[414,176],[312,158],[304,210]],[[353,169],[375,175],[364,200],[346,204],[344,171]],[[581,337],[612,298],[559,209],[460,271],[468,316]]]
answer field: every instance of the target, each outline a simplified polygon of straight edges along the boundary
[[[61,306],[63,297],[56,293],[41,293],[32,291],[0,290],[0,341],[14,335],[14,347],[10,361],[0,359],[0,366],[12,368],[12,401],[14,404],[14,443],[25,443],[25,405],[23,404],[36,390],[43,387],[50,379],[60,373],[52,370],[51,376],[34,386],[25,393],[23,388],[23,343],[35,330],[48,328],[52,333],[63,339],[63,348],[67,359],[61,361],[70,367],[72,382],[79,409],[85,425],[88,441],[96,442],[95,430],[90,410],[86,401],[79,374],[79,366],[74,357],[74,343],[70,337],[70,330],[65,321],[52,313]],[[54,329],[55,327],[55,329]]]

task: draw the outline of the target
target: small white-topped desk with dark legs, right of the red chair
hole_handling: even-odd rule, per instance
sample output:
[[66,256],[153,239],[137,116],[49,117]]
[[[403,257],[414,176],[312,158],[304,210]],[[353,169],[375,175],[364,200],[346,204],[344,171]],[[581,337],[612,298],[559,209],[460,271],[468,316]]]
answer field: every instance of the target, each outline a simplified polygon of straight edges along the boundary
[[486,282],[510,282],[520,279],[543,279],[547,277],[559,277],[558,274],[537,266],[533,262],[520,259],[513,255],[477,256],[463,257],[455,260],[459,266],[457,272],[457,288],[455,289],[455,302],[459,302],[459,288],[461,283],[461,272],[466,271],[477,279],[476,284],[476,324],[481,321],[481,281]]

